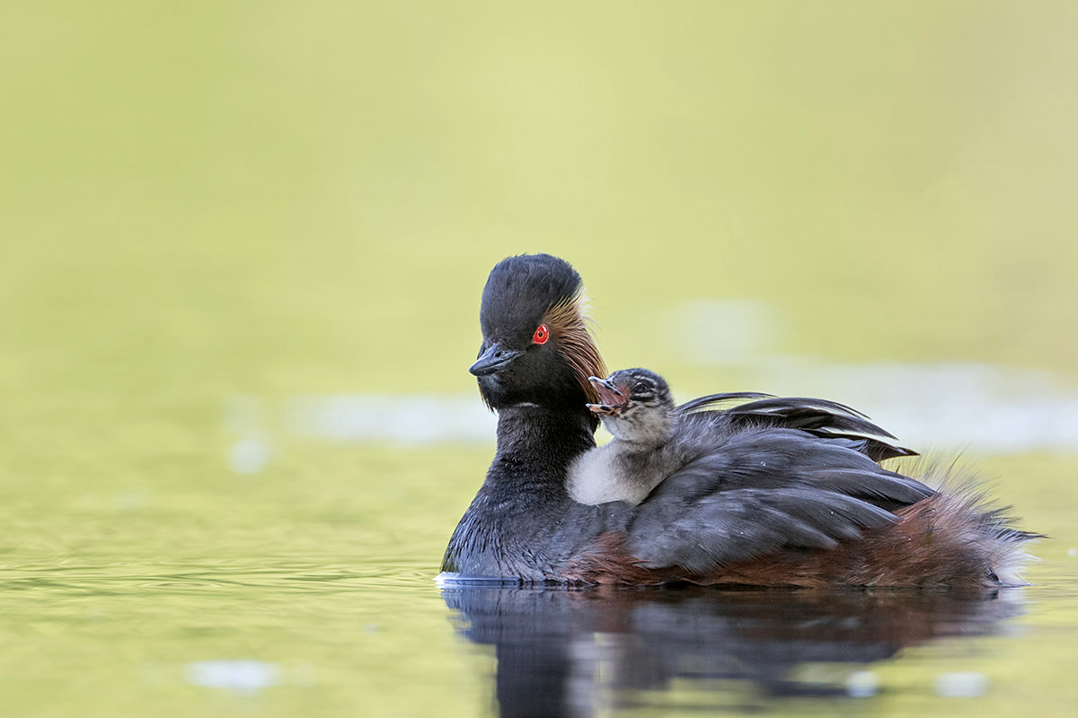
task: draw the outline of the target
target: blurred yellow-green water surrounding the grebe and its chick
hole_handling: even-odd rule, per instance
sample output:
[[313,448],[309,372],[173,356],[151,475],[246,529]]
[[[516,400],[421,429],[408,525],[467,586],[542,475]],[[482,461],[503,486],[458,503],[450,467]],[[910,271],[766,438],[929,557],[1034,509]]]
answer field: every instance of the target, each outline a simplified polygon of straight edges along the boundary
[[[472,394],[508,254],[571,261],[608,364],[675,388],[772,389],[668,340],[714,297],[770,307],[786,356],[1073,385],[1078,12],[1033,4],[5,10],[3,713],[493,710],[494,651],[431,581],[492,447],[302,438],[287,407]],[[866,661],[871,698],[757,707],[1068,715],[1078,459],[980,463],[1052,536],[1019,615]],[[986,691],[934,692],[963,672]]]

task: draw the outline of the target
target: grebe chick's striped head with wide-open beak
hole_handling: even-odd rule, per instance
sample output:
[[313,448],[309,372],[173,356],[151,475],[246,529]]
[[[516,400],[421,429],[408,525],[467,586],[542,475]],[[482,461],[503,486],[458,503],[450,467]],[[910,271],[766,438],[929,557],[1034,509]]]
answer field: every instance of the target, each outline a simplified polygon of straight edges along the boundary
[[625,441],[658,446],[674,433],[674,396],[666,380],[648,369],[619,369],[606,379],[591,377],[599,395],[588,408],[611,434]]

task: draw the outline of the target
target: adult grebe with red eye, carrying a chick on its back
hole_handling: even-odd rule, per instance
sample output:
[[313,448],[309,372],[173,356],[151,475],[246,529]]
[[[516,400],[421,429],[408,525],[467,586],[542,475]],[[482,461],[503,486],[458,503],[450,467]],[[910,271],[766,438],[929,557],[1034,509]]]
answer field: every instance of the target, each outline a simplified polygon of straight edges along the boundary
[[[968,481],[936,490],[877,462],[914,452],[842,405],[758,394],[681,407],[681,463],[637,505],[567,490],[594,449],[606,376],[568,263],[522,255],[483,291],[471,367],[498,412],[486,480],[443,571],[521,581],[995,588],[1022,582],[1023,545]],[[681,431],[679,428],[679,431]],[[925,470],[920,473],[922,478]]]

